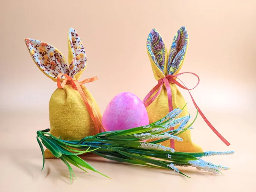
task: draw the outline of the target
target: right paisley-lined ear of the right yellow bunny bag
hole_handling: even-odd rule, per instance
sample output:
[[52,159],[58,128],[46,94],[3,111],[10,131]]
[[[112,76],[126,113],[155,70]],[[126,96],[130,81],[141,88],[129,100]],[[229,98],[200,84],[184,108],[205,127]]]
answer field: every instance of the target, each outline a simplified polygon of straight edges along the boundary
[[172,41],[167,64],[169,75],[173,75],[175,72],[178,73],[180,70],[186,55],[188,43],[189,36],[186,28],[183,26],[177,31]]

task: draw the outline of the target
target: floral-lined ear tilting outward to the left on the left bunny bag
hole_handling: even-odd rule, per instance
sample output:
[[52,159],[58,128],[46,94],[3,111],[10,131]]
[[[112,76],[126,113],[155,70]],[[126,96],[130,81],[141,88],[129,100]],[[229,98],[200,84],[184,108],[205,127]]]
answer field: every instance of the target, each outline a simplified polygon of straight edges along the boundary
[[59,73],[68,73],[62,53],[50,44],[34,39],[25,39],[27,48],[38,68],[53,81]]

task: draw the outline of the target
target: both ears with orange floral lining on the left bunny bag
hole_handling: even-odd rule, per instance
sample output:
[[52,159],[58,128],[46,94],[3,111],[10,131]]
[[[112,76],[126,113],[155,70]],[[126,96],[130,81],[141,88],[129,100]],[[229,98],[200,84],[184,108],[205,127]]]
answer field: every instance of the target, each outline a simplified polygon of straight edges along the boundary
[[58,74],[65,73],[73,78],[76,73],[86,67],[84,47],[75,29],[70,28],[68,38],[69,49],[73,52],[72,58],[69,58],[69,65],[67,65],[64,55],[52,45],[34,39],[25,39],[35,64],[47,76],[57,78]]

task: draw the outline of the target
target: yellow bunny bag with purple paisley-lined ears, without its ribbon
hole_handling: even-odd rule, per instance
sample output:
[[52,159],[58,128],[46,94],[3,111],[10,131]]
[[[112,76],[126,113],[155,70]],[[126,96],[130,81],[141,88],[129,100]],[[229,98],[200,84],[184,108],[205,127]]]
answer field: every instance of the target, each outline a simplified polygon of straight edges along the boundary
[[[170,48],[169,54],[167,53],[165,43],[163,38],[157,32],[156,29],[152,29],[152,31],[148,35],[147,39],[147,52],[148,57],[151,62],[151,67],[154,73],[155,79],[158,81],[159,79],[164,78],[167,75],[176,75],[179,73],[180,68],[183,65],[184,58],[186,56],[186,50],[188,47],[189,38],[185,27],[181,27],[172,42],[172,46]],[[183,98],[180,91],[177,89],[177,86],[173,83],[169,83],[172,92],[172,108],[183,108],[186,105],[186,101]],[[152,97],[151,97],[152,98]],[[160,94],[157,98],[147,106],[149,122],[156,122],[157,120],[166,116],[169,113],[169,105],[168,105],[168,97],[166,87],[163,86]],[[188,110],[185,107],[183,112],[180,114],[181,116],[188,115]],[[176,126],[174,129],[178,128]],[[169,130],[167,130],[169,131]],[[191,139],[191,131],[187,130],[184,133],[180,134],[179,137],[183,139],[182,142],[174,141],[175,151],[183,151],[183,152],[202,152],[202,148],[193,143]],[[152,140],[149,140],[152,141]],[[162,145],[170,146],[170,141],[167,140]]]

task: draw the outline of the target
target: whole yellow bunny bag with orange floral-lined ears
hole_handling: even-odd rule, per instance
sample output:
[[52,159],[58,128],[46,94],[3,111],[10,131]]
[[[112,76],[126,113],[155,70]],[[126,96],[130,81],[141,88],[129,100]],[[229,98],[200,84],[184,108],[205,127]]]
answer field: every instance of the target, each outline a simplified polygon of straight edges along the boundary
[[[68,61],[55,47],[42,41],[25,39],[27,48],[38,68],[50,79],[64,83],[64,87],[57,88],[49,101],[50,134],[63,140],[80,140],[84,137],[95,135],[101,131],[102,115],[95,99],[84,85],[81,92],[87,97],[90,108],[95,116],[93,121],[88,106],[85,105],[74,82],[78,81],[87,67],[87,58],[83,44],[75,29],[68,32]],[[68,78],[67,78],[68,77]],[[96,80],[94,78],[91,81]],[[91,82],[90,79],[86,82]],[[85,83],[86,83],[85,82]],[[58,85],[59,87],[59,85]],[[45,151],[46,158],[54,157],[48,149]]]

